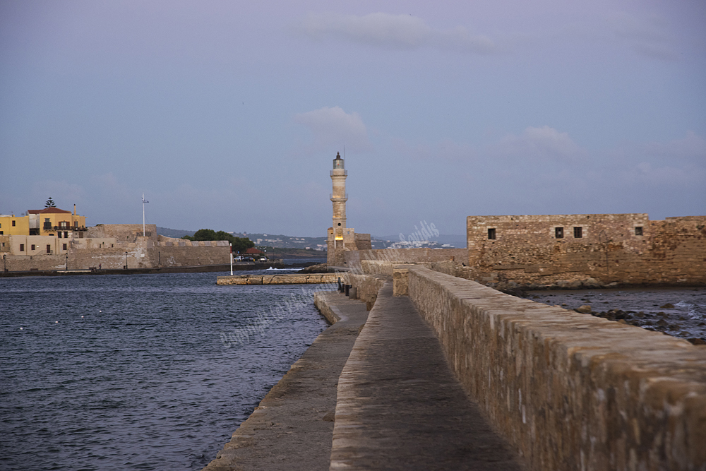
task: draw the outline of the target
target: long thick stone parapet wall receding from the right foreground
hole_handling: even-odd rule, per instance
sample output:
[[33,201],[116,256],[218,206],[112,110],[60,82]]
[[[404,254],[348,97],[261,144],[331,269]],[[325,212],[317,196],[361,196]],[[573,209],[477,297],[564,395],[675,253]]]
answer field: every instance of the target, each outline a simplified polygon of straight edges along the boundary
[[451,368],[530,469],[706,469],[706,347],[405,270]]

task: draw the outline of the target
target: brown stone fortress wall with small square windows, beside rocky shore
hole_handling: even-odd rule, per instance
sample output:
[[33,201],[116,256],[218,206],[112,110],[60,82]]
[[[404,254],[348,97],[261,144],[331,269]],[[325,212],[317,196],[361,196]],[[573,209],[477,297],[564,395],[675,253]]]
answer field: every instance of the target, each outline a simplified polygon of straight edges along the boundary
[[[562,239],[556,227],[563,227]],[[582,237],[574,237],[574,227]],[[706,284],[705,216],[469,216],[467,237],[469,266],[484,282]]]

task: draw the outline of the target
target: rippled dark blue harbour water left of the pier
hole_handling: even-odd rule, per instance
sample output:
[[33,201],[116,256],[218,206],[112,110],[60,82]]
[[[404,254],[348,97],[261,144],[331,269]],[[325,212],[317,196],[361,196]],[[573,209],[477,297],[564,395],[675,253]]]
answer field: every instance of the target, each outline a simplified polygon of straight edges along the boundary
[[[321,285],[0,278],[0,469],[199,470],[327,324]],[[225,347],[221,333],[289,307]]]

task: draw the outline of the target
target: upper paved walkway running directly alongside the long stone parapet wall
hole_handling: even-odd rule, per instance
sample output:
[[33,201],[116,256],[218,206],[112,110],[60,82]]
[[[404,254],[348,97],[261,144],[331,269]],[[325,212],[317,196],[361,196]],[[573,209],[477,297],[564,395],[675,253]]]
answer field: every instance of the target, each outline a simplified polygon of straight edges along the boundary
[[338,383],[330,470],[521,470],[409,297],[378,292]]

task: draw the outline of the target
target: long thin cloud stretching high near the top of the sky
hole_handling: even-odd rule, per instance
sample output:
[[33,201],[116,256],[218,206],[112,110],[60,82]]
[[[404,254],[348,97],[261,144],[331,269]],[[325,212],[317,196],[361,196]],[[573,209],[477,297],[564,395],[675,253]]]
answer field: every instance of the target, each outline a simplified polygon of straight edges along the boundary
[[496,44],[488,37],[472,35],[462,26],[452,30],[436,30],[421,18],[411,15],[309,13],[301,23],[301,29],[316,40],[334,38],[388,49],[433,47],[475,54],[498,51]]

